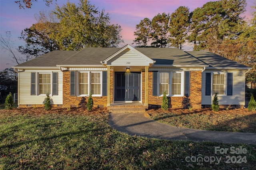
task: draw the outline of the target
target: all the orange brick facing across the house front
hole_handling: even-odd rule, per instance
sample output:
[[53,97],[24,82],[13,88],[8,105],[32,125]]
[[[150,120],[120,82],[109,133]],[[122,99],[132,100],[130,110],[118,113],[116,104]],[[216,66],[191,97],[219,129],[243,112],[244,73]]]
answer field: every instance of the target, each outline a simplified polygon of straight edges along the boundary
[[[142,71],[142,104],[145,103],[145,71]],[[192,106],[194,109],[201,108],[201,71],[190,71],[190,96],[189,97],[168,97],[169,107],[187,108]],[[110,104],[114,103],[114,70],[110,70]],[[162,97],[153,96],[153,72],[148,72],[148,106],[162,105]],[[94,107],[106,107],[107,96],[92,97]],[[70,71],[63,72],[63,104],[53,105],[53,107],[84,107],[88,97],[70,96]],[[44,105],[36,105],[43,107]],[[19,107],[34,107],[34,105],[19,105]]]

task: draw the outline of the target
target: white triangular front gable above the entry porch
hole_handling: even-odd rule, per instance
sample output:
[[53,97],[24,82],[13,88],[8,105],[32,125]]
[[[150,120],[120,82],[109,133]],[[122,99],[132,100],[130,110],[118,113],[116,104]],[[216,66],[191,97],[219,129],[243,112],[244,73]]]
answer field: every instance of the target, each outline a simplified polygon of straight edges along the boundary
[[155,61],[126,45],[101,63],[105,66],[151,66]]

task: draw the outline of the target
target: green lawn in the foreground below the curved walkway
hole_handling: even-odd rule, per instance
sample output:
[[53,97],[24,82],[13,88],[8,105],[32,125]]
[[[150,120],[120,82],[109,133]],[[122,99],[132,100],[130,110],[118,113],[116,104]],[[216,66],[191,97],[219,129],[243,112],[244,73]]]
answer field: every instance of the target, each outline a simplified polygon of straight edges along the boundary
[[[32,109],[32,108],[31,108]],[[0,170],[34,169],[256,169],[256,146],[193,143],[129,136],[108,125],[108,114],[0,111]],[[43,111],[34,109],[35,112]],[[67,111],[65,111],[67,112]],[[246,154],[214,153],[214,147],[245,148]],[[220,163],[187,156],[221,157]],[[242,156],[247,162],[226,163]],[[187,161],[186,161],[187,160]],[[188,162],[188,160],[190,162]],[[206,159],[207,160],[207,159]],[[215,164],[216,163],[216,164]]]

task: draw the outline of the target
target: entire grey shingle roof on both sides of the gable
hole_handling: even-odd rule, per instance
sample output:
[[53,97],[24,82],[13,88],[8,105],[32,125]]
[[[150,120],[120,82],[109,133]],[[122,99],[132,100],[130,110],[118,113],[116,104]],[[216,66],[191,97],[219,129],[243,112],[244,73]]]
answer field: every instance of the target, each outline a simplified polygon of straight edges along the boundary
[[[52,51],[15,67],[52,67],[56,65],[100,65],[122,48],[84,48],[81,51]],[[246,67],[224,57],[204,51],[184,52],[177,48],[135,48],[154,65]]]

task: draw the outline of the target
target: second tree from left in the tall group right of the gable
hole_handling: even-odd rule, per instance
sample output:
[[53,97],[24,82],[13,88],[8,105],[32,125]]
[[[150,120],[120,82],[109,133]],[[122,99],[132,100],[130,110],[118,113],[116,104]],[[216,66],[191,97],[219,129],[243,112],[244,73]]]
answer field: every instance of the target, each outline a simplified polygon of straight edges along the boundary
[[168,42],[168,28],[169,28],[170,14],[157,14],[151,21],[152,37],[151,45],[153,47],[164,48]]

